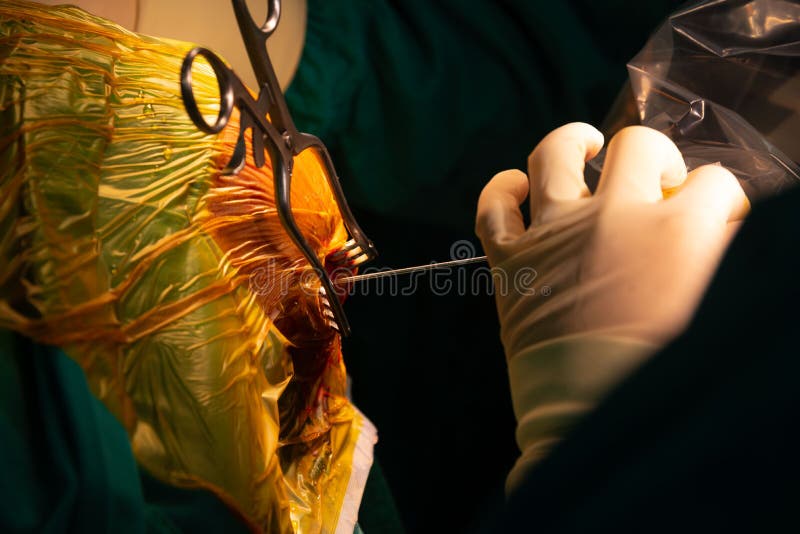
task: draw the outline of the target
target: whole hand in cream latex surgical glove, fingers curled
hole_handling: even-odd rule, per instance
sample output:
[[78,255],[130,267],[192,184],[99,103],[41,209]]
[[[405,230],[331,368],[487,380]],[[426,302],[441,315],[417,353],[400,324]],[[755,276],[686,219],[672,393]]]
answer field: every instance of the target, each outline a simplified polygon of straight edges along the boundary
[[[598,189],[585,161],[603,145],[587,124],[563,126],[484,188],[476,232],[496,301],[523,452],[520,481],[576,419],[689,320],[749,203],[718,165],[688,176],[677,147],[642,126],[608,147]],[[676,191],[665,199],[663,190]],[[518,276],[534,269],[530,276]],[[526,278],[528,280],[526,280]],[[506,287],[504,287],[506,286]]]

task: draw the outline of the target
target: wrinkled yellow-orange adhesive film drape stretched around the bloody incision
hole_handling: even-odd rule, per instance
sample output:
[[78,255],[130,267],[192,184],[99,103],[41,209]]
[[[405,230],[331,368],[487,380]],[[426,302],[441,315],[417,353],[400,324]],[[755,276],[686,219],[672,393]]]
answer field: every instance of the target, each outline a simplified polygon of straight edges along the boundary
[[[207,136],[183,108],[190,48],[0,1],[0,328],[81,364],[161,480],[211,489],[256,530],[334,531],[374,432],[271,169],[221,175],[238,119]],[[194,74],[213,111],[210,68]],[[322,172],[301,154],[292,201],[325,257],[346,232]]]

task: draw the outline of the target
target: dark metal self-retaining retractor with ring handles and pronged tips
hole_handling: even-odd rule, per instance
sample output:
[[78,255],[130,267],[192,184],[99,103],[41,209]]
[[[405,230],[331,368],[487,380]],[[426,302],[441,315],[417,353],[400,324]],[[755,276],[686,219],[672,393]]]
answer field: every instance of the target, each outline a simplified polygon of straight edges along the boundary
[[[333,322],[329,324],[337,328],[343,336],[350,334],[350,325],[344,314],[337,290],[328,272],[311,246],[303,237],[295,222],[291,205],[292,168],[294,157],[304,150],[314,150],[319,155],[328,179],[334,199],[342,215],[349,239],[341,250],[331,254],[329,260],[333,264],[354,266],[377,256],[377,250],[356,223],[350,207],[344,197],[339,177],[333,167],[330,154],[322,141],[308,133],[297,130],[289,114],[289,108],[283,97],[278,79],[267,53],[267,39],[275,31],[280,19],[280,0],[267,0],[267,16],[263,25],[259,26],[247,7],[245,0],[233,0],[233,10],[239,31],[242,34],[250,64],[259,85],[258,98],[254,99],[238,76],[222,59],[210,50],[202,47],[192,49],[184,58],[181,66],[181,94],[192,122],[202,131],[210,134],[219,133],[230,119],[233,108],[239,108],[239,137],[231,160],[225,171],[238,173],[245,164],[246,143],[245,132],[251,131],[251,147],[253,160],[257,167],[265,163],[264,151],[272,162],[275,184],[275,199],[278,217],[283,228],[294,244],[300,249],[315,270],[322,284],[323,304],[327,307],[326,315]],[[206,122],[194,97],[192,87],[192,65],[201,56],[208,61],[217,77],[220,90],[220,108],[214,124]],[[267,120],[269,116],[269,120]]]

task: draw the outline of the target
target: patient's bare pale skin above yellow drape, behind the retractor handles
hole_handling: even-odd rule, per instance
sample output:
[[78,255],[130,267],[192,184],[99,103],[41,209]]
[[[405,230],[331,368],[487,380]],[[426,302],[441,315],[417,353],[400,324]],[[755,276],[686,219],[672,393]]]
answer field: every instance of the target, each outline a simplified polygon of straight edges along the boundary
[[[197,43],[228,61],[242,81],[257,90],[239,26],[230,2],[205,2],[202,9],[193,0],[39,0],[42,4],[73,4],[125,28],[153,35]],[[260,25],[267,0],[247,0],[254,20]],[[272,66],[282,89],[289,86],[303,52],[306,31],[306,0],[281,2],[281,18],[269,38]]]

